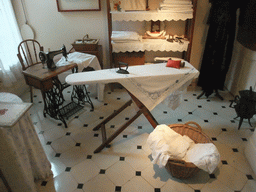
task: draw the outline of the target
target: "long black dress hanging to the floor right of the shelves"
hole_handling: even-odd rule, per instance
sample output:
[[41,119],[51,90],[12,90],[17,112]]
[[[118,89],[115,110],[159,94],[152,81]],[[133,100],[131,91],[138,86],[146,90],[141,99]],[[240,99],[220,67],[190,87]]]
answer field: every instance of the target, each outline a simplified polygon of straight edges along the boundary
[[210,0],[209,30],[198,85],[208,97],[223,90],[232,57],[238,0]]

